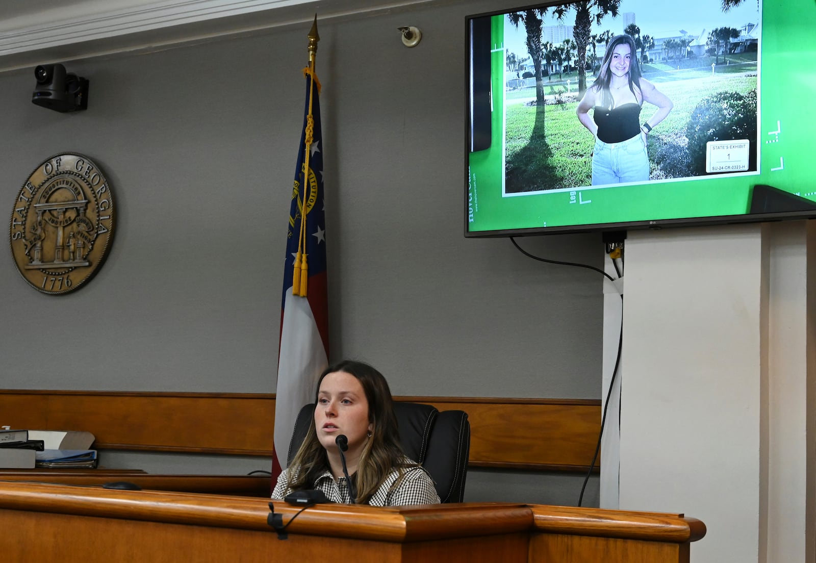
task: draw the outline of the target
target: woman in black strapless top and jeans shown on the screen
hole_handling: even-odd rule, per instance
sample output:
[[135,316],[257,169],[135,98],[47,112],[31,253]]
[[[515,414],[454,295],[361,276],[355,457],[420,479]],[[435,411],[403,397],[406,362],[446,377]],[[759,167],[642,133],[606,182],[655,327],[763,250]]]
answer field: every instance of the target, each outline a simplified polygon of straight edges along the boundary
[[[672,111],[672,100],[641,77],[635,52],[635,41],[628,35],[612,38],[598,77],[576,110],[579,121],[595,136],[593,186],[649,180],[646,135]],[[658,109],[641,124],[644,101]]]

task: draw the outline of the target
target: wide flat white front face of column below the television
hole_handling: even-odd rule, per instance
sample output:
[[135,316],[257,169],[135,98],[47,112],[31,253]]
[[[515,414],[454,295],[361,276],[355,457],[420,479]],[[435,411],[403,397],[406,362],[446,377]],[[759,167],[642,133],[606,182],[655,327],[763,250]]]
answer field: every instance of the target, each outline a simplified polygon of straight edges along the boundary
[[757,561],[761,226],[626,241],[620,507],[705,522],[695,563]]

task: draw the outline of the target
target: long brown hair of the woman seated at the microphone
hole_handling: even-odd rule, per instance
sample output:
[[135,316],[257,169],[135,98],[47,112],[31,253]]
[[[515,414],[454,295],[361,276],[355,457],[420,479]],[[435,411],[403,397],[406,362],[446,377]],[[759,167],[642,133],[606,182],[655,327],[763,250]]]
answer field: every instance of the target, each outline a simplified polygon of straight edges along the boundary
[[[397,468],[401,473],[403,468],[410,465],[405,463],[405,454],[400,446],[391,389],[388,388],[384,376],[372,366],[361,361],[344,360],[327,367],[317,380],[315,403],[323,378],[335,371],[353,375],[366,393],[368,421],[373,429],[371,437],[363,445],[357,473],[352,478],[357,482],[357,503],[368,503],[393,468]],[[313,488],[317,477],[329,468],[326,449],[317,440],[314,418],[289,468],[289,486],[292,490]],[[399,481],[397,479],[397,482]]]

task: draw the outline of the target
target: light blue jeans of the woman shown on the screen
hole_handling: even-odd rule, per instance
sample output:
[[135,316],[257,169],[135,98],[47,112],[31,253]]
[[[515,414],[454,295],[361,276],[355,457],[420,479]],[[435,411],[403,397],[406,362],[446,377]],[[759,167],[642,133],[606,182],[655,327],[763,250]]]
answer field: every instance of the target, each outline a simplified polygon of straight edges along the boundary
[[592,153],[592,185],[645,182],[649,180],[649,155],[641,135],[620,143],[595,141]]

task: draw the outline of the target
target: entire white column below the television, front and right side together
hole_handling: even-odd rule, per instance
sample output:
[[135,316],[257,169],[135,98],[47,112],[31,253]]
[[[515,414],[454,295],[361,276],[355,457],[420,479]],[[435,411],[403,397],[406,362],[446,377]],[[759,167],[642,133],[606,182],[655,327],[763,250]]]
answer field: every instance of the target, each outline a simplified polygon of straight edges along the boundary
[[703,520],[695,563],[814,561],[814,225],[628,233],[619,506]]

